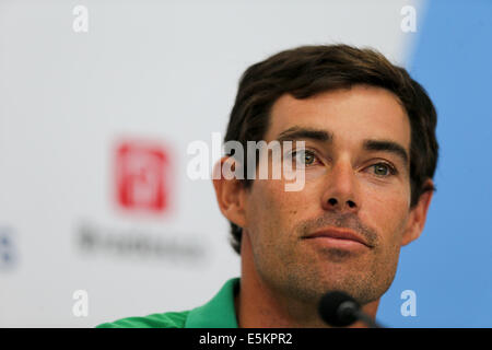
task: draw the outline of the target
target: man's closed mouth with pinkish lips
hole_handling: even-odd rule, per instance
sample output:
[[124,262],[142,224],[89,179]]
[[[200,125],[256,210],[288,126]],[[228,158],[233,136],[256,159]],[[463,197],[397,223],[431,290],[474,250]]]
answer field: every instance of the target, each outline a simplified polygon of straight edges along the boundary
[[363,236],[347,229],[323,229],[303,238],[338,248],[372,248]]

